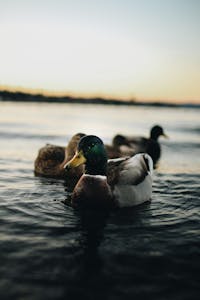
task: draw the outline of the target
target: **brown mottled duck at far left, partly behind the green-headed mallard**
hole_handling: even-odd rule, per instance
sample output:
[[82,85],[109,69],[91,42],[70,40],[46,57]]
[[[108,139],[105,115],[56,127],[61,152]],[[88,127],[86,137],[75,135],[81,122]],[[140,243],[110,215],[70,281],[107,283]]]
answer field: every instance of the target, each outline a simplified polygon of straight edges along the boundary
[[[85,134],[77,133],[69,141],[67,147],[47,144],[42,147],[34,162],[34,173],[36,176],[66,178],[63,166],[74,156],[78,142]],[[71,178],[80,178],[83,174],[83,166],[71,170]]]

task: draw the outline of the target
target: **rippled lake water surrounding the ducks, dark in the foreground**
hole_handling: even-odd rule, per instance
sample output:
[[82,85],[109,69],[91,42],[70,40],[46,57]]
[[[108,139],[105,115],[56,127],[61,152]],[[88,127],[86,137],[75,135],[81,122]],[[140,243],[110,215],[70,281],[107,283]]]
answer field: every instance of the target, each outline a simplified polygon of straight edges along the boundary
[[[1,299],[199,299],[200,111],[0,102]],[[150,204],[110,215],[63,204],[62,180],[34,177],[45,143],[76,132],[111,142],[161,124]]]

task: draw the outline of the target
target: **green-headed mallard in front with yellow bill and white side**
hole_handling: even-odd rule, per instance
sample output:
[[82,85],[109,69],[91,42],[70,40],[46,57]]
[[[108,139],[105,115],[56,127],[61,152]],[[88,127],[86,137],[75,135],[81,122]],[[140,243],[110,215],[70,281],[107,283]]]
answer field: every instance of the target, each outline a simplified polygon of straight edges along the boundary
[[85,172],[72,192],[73,207],[126,207],[150,200],[153,162],[148,154],[107,161],[102,140],[88,135],[65,168],[70,171],[82,164]]

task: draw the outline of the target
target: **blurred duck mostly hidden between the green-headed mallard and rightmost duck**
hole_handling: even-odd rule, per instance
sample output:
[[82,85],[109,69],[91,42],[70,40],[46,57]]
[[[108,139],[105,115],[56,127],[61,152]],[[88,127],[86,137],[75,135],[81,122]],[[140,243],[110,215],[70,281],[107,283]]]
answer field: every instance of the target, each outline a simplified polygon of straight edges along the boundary
[[111,145],[105,145],[108,158],[132,156],[135,154],[131,144],[123,135],[116,135]]

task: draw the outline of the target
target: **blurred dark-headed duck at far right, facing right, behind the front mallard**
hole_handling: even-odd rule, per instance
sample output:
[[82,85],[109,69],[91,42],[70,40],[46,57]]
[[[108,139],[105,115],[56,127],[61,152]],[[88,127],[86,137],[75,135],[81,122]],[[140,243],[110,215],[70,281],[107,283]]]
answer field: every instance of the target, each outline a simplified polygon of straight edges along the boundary
[[[124,137],[126,143],[129,143],[135,154],[137,153],[148,153],[152,160],[154,168],[156,167],[156,163],[161,156],[161,147],[158,142],[158,138],[160,136],[164,136],[167,138],[167,135],[164,133],[163,128],[159,125],[156,125],[151,128],[149,138],[133,136],[133,137]],[[115,136],[114,138],[117,138]]]

